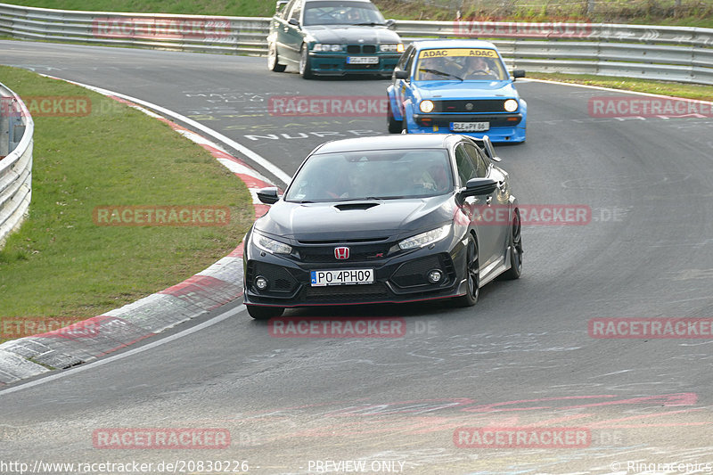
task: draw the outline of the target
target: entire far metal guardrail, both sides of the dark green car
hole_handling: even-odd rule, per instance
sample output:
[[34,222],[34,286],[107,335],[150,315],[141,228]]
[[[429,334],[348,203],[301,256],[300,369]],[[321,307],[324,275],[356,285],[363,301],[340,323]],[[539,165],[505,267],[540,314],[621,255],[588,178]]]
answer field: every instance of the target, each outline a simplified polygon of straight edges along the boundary
[[[75,12],[0,4],[0,35],[180,51],[265,54],[269,18]],[[713,85],[713,29],[606,23],[399,20],[418,38],[493,41],[509,66]]]

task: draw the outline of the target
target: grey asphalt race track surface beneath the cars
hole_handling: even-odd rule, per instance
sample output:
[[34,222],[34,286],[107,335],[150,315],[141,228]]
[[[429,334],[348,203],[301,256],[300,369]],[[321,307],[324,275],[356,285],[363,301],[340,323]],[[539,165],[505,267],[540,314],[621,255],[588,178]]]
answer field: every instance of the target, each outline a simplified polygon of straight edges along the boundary
[[[288,175],[331,136],[385,133],[381,117],[266,111],[271,94],[381,96],[385,80],[305,81],[268,73],[264,59],[225,55],[8,41],[0,51],[4,64],[196,119]],[[466,309],[435,302],[286,314],[403,317],[400,338],[275,338],[234,302],[104,364],[0,391],[0,461],[137,461],[153,463],[150,473],[176,461],[247,461],[250,473],[271,474],[359,466],[347,461],[378,473],[652,468],[641,463],[713,471],[713,341],[594,339],[587,331],[593,318],[713,316],[713,119],[595,119],[588,100],[619,93],[518,85],[529,103],[528,142],[497,150],[520,203],[592,209],[587,225],[524,226],[519,281],[488,284]],[[570,427],[591,440],[462,447],[454,433],[463,427]],[[96,430],[116,428],[218,428],[231,444],[94,446]],[[227,465],[183,468],[218,473]]]

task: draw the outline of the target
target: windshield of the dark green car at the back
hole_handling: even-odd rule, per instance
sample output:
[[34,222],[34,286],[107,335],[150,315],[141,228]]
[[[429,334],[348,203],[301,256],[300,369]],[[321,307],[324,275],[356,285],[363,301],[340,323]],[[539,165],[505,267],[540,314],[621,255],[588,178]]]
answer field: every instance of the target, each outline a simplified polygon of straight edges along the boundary
[[384,17],[366,2],[309,2],[305,4],[305,26],[385,25]]

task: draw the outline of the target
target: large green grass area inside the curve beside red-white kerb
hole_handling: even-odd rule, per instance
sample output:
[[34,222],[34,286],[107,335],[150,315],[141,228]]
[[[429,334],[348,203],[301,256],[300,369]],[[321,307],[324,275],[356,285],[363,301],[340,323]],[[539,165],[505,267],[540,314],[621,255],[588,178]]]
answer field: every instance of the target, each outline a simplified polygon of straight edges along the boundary
[[[0,66],[26,102],[80,96],[85,117],[35,116],[29,218],[0,250],[0,319],[101,315],[200,272],[253,217],[242,182],[200,146],[78,86]],[[97,206],[230,207],[229,225],[99,226]],[[0,322],[2,323],[2,322]]]

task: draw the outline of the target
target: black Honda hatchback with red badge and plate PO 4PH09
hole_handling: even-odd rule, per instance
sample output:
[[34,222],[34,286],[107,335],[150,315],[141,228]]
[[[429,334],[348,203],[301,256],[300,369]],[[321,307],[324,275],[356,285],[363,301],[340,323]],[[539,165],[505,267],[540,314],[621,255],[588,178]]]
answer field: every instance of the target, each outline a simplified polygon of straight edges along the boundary
[[324,143],[245,236],[244,303],[285,308],[455,299],[520,277],[520,211],[487,137],[390,135]]

